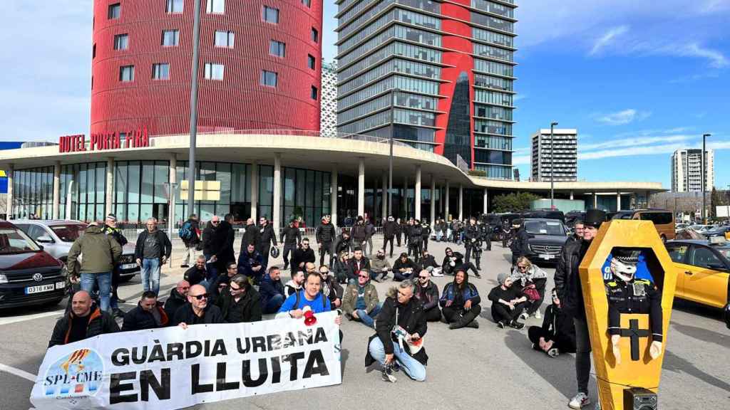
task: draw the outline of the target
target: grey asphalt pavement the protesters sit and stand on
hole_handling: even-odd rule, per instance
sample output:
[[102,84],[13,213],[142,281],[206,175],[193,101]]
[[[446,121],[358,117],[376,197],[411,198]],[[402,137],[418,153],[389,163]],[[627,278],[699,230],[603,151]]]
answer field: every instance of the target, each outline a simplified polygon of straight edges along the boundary
[[[377,241],[379,242],[379,241]],[[377,243],[376,243],[377,246]],[[440,260],[445,244],[431,241],[429,250]],[[463,252],[461,246],[456,250]],[[401,248],[402,249],[402,248]],[[399,249],[399,250],[401,250]],[[397,255],[394,255],[397,256]],[[449,330],[429,324],[426,382],[399,374],[398,382],[380,380],[377,368],[366,370],[366,344],[373,331],[345,320],[342,350],[343,382],[338,386],[282,392],[223,401],[191,409],[565,409],[575,394],[572,355],[550,358],[530,349],[525,330],[501,330],[491,320],[486,295],[496,275],[509,269],[509,251],[493,243],[482,260],[482,279],[470,278],[483,297],[480,328]],[[174,258],[176,266],[180,259]],[[549,271],[552,288],[553,268]],[[180,268],[164,268],[161,295],[182,277]],[[435,278],[439,290],[450,277]],[[376,284],[383,295],[395,282]],[[141,293],[139,277],[120,287],[127,309]],[[32,382],[42,362],[61,306],[0,311],[0,410],[29,409]],[[543,310],[544,310],[543,306]],[[527,325],[539,325],[534,318]],[[659,390],[661,409],[726,409],[730,403],[730,330],[720,312],[677,301],[666,336],[666,357]],[[9,366],[9,367],[8,367]],[[591,378],[591,400],[596,400]],[[590,408],[592,409],[592,407]]]

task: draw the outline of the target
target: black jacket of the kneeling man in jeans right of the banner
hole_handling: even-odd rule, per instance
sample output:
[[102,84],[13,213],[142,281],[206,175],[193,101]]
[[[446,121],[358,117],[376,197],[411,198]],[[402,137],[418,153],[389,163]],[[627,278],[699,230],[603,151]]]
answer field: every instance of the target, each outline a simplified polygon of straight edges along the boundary
[[[404,328],[409,334],[418,333],[420,337],[423,337],[426,335],[426,330],[428,330],[423,303],[417,298],[410,298],[408,303],[401,305],[401,303],[398,303],[395,295],[388,296],[383,302],[383,308],[380,309],[380,313],[377,314],[377,320],[375,321],[376,334],[370,338],[372,340],[377,337],[383,342],[386,355],[393,353],[393,344],[397,343],[397,341],[393,341],[391,333],[393,326],[396,325],[396,310],[398,312],[397,325]],[[404,343],[403,348],[408,351],[407,344]],[[426,355],[426,348],[420,349],[416,355],[413,355],[413,358],[421,364],[426,365],[429,361],[429,356]],[[374,359],[370,356],[370,352],[368,352],[365,357],[365,365],[369,366],[372,363],[374,363]]]

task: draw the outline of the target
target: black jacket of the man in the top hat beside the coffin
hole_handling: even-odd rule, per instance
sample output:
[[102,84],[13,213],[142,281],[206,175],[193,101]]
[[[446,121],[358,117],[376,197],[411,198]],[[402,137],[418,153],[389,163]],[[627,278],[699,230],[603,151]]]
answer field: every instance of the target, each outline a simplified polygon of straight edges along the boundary
[[590,243],[573,241],[565,244],[555,269],[555,287],[566,314],[585,320],[583,287],[580,285],[578,266]]

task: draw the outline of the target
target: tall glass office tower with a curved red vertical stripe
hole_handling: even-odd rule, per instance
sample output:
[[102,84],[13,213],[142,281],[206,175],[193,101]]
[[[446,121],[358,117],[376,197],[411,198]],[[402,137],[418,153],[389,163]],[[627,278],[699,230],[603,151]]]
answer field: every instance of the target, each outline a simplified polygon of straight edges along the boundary
[[515,0],[335,2],[337,130],[511,179]]

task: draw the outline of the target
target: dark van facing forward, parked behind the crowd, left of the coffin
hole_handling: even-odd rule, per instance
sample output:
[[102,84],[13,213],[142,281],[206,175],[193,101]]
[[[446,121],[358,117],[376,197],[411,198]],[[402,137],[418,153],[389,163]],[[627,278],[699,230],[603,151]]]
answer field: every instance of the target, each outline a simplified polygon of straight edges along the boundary
[[529,260],[550,263],[558,261],[565,241],[568,240],[568,230],[561,221],[548,218],[526,219],[525,231],[530,236],[530,253],[527,255]]

